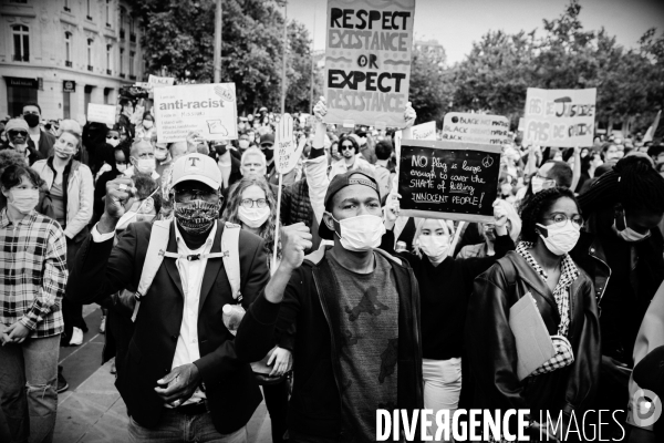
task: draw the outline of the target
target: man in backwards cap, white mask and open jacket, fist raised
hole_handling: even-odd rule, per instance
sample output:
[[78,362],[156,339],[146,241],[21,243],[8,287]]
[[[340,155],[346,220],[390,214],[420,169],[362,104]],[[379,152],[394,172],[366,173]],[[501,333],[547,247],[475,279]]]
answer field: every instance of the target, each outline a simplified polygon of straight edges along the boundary
[[[407,262],[376,249],[385,233],[376,179],[336,175],[319,235],[286,229],[282,261],[240,326],[236,351],[258,360],[274,323],[297,326],[290,442],[371,442],[376,410],[423,406],[419,293]],[[305,229],[305,228],[304,228]]]

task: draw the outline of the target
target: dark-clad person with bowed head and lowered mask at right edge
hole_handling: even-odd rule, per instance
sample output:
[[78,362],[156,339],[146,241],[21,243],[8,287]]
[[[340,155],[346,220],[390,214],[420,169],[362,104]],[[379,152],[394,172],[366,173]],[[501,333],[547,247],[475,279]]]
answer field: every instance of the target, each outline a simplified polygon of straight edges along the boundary
[[[664,218],[664,178],[649,158],[627,156],[579,196],[579,204],[588,223],[571,256],[593,280],[602,310],[596,405],[624,411],[639,327],[664,281],[658,228]],[[620,436],[620,427],[614,427]]]

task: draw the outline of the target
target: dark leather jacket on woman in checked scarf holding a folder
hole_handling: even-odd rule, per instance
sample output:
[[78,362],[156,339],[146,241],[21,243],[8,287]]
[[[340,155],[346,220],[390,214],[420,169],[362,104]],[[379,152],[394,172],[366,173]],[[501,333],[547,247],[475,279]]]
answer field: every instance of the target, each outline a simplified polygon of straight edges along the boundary
[[[574,362],[552,372],[517,377],[517,349],[509,327],[509,309],[530,292],[550,336],[558,333],[560,316],[553,293],[517,253],[508,253],[475,280],[466,321],[466,349],[476,381],[474,408],[530,409],[577,414],[588,409],[600,375],[600,326],[590,278],[580,270],[570,287],[568,340]],[[577,415],[579,416],[579,415]]]

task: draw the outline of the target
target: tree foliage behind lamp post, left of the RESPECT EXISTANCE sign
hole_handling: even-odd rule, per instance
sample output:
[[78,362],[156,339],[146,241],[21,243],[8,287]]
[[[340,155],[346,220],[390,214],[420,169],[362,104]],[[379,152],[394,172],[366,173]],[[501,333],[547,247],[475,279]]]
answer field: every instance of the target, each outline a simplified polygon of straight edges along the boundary
[[[144,28],[148,73],[165,69],[178,80],[212,81],[214,0],[136,0],[133,8]],[[221,81],[236,84],[240,112],[280,107],[283,22],[276,2],[222,1]],[[297,111],[309,107],[311,38],[294,21],[289,23],[288,35],[286,107]]]

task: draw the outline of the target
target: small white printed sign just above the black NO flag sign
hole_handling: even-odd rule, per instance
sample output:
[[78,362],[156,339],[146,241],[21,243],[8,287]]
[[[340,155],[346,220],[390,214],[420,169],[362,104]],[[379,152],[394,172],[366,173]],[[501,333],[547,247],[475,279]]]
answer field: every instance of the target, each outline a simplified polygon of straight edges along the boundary
[[504,145],[508,138],[509,122],[502,115],[448,112],[443,120],[443,140],[453,142]]

